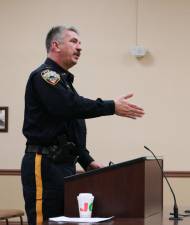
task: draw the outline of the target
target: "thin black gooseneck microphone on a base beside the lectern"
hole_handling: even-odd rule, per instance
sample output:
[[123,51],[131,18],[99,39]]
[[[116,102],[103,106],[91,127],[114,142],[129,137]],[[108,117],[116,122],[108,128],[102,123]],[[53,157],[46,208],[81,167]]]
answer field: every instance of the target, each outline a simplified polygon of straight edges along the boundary
[[163,171],[163,168],[161,167],[161,165],[160,165],[160,163],[159,163],[157,157],[156,157],[155,154],[153,153],[153,151],[151,151],[151,150],[150,150],[148,147],[146,147],[146,146],[144,146],[144,148],[145,148],[146,150],[148,150],[148,151],[154,156],[154,158],[156,159],[156,161],[157,161],[157,163],[158,163],[158,165],[159,165],[159,167],[160,167],[160,170],[161,170],[161,172],[162,172],[162,175],[163,175],[163,177],[165,178],[165,180],[166,180],[166,182],[167,182],[167,184],[168,184],[168,186],[169,186],[169,188],[170,188],[170,191],[171,191],[171,193],[172,193],[172,195],[173,195],[173,199],[174,199],[174,207],[173,207],[173,213],[171,213],[171,215],[173,215],[173,217],[169,217],[169,220],[183,220],[182,217],[179,217],[176,197],[175,197],[174,191],[173,191],[173,189],[172,189],[172,187],[171,187],[171,185],[170,185],[170,183],[169,183],[169,181],[168,181],[168,179],[167,179],[167,177],[166,177],[166,175],[165,175],[165,173],[164,173],[164,171]]

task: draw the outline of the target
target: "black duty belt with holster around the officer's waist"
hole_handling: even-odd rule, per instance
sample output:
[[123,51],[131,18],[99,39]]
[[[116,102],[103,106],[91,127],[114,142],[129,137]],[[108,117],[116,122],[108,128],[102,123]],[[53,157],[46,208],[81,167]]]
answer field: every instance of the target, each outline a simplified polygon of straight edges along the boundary
[[54,163],[77,163],[79,158],[76,155],[75,149],[65,147],[59,147],[58,145],[40,146],[40,145],[27,145],[25,153],[38,153],[41,155],[47,155]]

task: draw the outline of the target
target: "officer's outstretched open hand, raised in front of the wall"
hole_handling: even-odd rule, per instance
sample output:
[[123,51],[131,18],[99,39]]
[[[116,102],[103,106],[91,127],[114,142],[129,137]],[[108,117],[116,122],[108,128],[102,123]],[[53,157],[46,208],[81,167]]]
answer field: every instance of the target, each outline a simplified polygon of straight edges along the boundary
[[128,99],[132,97],[133,94],[129,94],[114,100],[116,115],[129,117],[131,119],[136,119],[137,117],[142,117],[144,115],[144,110],[142,108],[128,102]]

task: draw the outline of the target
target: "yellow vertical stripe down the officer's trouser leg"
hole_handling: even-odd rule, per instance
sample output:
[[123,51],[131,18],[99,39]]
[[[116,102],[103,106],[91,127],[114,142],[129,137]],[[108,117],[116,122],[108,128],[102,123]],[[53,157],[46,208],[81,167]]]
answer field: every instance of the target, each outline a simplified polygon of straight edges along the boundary
[[36,179],[36,224],[42,224],[42,176],[41,176],[42,155],[35,157],[35,179]]

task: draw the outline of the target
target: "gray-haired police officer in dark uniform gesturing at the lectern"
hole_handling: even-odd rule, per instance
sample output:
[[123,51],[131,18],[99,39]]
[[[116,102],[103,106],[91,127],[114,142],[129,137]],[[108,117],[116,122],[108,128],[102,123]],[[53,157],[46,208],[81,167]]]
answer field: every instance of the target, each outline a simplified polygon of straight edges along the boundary
[[136,119],[142,108],[126,95],[115,100],[91,100],[73,87],[68,70],[81,55],[78,31],[53,27],[46,37],[47,59],[28,79],[23,134],[27,139],[21,178],[29,225],[61,216],[64,177],[75,174],[76,162],[85,169],[101,168],[86,149],[84,119],[116,114]]

